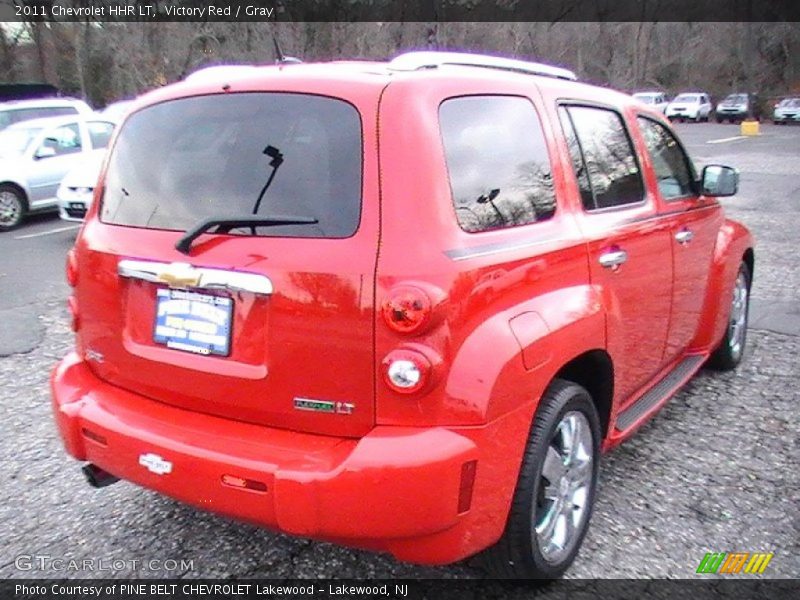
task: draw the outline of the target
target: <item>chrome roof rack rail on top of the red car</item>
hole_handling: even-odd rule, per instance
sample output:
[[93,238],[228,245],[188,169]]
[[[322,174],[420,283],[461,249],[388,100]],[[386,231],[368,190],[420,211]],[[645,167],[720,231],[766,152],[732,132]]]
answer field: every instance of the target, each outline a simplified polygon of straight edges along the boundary
[[577,81],[578,77],[569,69],[553,67],[542,63],[528,62],[514,58],[500,56],[487,56],[485,54],[470,54],[468,52],[433,52],[415,51],[400,54],[389,61],[389,68],[397,71],[417,71],[432,69],[442,65],[458,65],[464,67],[483,67],[487,69],[500,69],[502,71],[515,71],[530,75],[544,75]]

